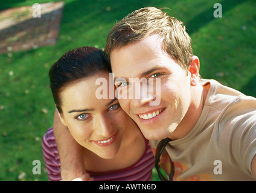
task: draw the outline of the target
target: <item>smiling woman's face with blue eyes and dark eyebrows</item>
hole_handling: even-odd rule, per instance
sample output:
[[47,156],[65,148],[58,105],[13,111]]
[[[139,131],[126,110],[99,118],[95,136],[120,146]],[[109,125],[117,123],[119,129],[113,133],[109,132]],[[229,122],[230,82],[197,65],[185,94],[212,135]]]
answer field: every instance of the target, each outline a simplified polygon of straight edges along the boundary
[[109,84],[109,72],[106,71],[69,84],[60,93],[60,119],[78,144],[104,159],[111,159],[118,153],[124,128],[132,119],[121,109],[117,100],[97,98],[97,78],[105,78],[108,86],[113,86]]

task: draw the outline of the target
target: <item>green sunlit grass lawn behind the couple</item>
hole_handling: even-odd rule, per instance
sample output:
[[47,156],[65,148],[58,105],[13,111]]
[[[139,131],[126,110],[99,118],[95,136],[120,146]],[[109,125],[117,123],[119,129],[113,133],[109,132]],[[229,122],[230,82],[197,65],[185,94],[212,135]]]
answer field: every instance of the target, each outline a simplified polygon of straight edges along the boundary
[[[2,0],[0,10],[35,2]],[[213,16],[216,2],[222,4],[222,18]],[[53,122],[50,66],[69,49],[104,48],[112,25],[140,7],[168,7],[168,14],[187,25],[203,78],[256,96],[256,2],[216,2],[66,0],[56,45],[0,55],[0,180],[18,180],[22,172],[26,174],[22,180],[48,180],[41,142]],[[42,163],[42,174],[32,173],[33,160]],[[158,179],[155,171],[153,179]]]

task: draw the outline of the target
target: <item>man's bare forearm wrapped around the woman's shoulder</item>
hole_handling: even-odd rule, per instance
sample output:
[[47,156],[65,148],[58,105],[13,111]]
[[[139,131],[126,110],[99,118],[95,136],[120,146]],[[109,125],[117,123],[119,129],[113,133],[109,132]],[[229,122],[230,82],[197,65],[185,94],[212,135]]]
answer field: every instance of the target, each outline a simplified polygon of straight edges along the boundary
[[72,137],[68,127],[60,121],[57,109],[54,113],[53,133],[60,156],[62,180],[73,180],[86,173],[83,147]]

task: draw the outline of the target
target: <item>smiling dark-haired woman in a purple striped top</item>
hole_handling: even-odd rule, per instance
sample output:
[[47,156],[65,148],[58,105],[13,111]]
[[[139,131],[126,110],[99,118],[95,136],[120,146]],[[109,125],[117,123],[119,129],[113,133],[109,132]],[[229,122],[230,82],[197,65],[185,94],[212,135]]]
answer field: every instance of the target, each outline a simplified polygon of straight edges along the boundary
[[[66,52],[51,67],[60,120],[82,145],[86,172],[94,180],[151,180],[155,159],[149,142],[116,99],[95,95],[98,78],[112,84],[109,66],[103,51],[82,47]],[[48,178],[62,180],[53,128],[43,136],[42,147]]]

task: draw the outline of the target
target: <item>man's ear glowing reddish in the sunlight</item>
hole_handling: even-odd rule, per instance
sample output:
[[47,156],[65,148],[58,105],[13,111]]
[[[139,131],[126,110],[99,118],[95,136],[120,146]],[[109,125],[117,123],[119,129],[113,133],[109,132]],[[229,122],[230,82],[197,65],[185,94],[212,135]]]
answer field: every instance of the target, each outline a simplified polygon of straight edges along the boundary
[[196,55],[193,55],[191,57],[189,72],[191,74],[190,80],[191,80],[191,86],[196,86],[200,81],[200,75],[199,75],[199,69],[200,69],[200,62],[199,58]]

